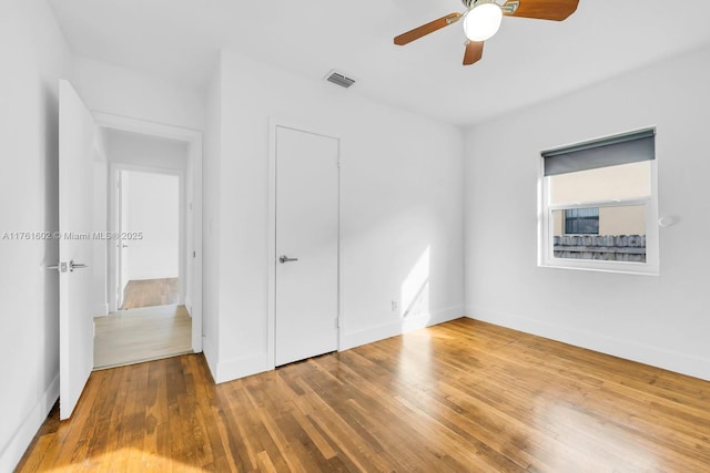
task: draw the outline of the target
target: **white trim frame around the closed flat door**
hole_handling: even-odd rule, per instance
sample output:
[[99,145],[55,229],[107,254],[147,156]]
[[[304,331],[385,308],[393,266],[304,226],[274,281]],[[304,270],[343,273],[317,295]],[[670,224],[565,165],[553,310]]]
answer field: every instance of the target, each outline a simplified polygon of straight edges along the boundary
[[324,136],[337,141],[337,350],[341,351],[341,340],[344,333],[343,298],[341,288],[343,282],[343,243],[342,243],[342,196],[341,196],[341,169],[343,146],[341,134],[323,124],[298,124],[277,117],[268,120],[268,250],[266,251],[266,266],[268,268],[267,290],[267,325],[266,325],[266,354],[270,370],[276,366],[276,130],[288,128],[317,136]]

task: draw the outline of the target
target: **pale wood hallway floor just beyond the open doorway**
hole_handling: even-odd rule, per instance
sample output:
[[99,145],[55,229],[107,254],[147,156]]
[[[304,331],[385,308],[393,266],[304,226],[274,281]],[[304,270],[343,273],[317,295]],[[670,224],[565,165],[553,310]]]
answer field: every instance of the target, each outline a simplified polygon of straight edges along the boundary
[[192,319],[185,306],[119,310],[93,321],[94,369],[192,352]]

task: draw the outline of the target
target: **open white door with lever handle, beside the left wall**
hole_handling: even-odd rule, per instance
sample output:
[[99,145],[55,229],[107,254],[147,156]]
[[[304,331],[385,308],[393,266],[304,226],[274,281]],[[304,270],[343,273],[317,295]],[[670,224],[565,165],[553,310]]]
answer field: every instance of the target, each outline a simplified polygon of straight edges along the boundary
[[59,383],[69,419],[93,368],[91,313],[95,126],[67,81],[59,84]]

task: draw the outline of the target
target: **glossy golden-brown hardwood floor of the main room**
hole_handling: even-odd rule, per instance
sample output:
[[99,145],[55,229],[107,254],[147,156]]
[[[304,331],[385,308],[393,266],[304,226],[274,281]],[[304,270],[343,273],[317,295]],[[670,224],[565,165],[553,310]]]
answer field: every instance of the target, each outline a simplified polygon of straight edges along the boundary
[[20,472],[707,472],[710,382],[459,319],[214,385],[95,371]]

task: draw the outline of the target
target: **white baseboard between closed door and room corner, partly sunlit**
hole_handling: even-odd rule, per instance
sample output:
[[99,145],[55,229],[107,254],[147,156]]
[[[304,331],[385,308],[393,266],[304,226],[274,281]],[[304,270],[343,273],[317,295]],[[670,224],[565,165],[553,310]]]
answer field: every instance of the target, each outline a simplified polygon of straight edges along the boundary
[[359,347],[361,345],[372,343],[374,341],[403,335],[412,330],[447,322],[449,320],[463,317],[463,313],[464,308],[462,306],[449,307],[447,309],[437,310],[433,313],[405,317],[382,326],[372,327],[351,333],[344,333],[343,337],[341,337],[339,350],[347,350],[351,348]]

